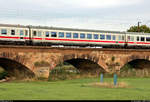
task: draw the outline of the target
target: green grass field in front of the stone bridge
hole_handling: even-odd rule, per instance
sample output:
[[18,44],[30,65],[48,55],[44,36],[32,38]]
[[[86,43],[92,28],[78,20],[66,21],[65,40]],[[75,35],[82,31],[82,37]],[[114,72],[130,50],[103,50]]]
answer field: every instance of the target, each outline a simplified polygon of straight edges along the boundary
[[[85,86],[99,78],[0,83],[0,100],[150,100],[150,78],[121,78],[130,88]],[[105,78],[104,82],[113,82]]]

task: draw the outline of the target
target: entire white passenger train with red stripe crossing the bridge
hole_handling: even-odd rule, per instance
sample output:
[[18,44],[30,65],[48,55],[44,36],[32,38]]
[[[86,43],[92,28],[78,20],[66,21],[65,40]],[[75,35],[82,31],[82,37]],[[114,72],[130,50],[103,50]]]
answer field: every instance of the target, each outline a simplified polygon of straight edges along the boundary
[[150,33],[0,24],[0,44],[150,47]]

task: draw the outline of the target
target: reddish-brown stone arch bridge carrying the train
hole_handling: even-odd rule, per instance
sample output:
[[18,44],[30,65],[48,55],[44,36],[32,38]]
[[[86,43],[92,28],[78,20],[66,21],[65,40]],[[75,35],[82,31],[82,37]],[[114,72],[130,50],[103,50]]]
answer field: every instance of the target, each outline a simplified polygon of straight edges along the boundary
[[44,77],[48,77],[49,71],[56,65],[69,60],[72,60],[73,65],[80,64],[77,67],[82,66],[80,61],[91,61],[105,72],[111,72],[111,66],[114,65],[114,69],[119,71],[125,64],[136,59],[150,60],[150,50],[0,46],[0,66],[10,71],[13,67],[23,67],[28,72]]

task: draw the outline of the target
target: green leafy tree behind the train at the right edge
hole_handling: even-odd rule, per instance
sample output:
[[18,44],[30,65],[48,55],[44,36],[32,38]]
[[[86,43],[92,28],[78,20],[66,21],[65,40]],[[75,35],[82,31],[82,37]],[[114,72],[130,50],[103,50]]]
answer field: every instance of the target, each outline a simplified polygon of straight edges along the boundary
[[[131,26],[127,32],[138,32],[138,26]],[[139,32],[150,33],[150,27],[146,25],[139,26]]]

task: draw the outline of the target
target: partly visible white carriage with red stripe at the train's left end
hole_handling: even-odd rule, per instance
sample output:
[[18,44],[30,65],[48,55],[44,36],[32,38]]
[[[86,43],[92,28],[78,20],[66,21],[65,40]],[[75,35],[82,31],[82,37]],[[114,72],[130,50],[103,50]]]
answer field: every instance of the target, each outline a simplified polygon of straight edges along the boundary
[[0,24],[1,43],[24,43],[29,40],[29,29],[26,26]]

